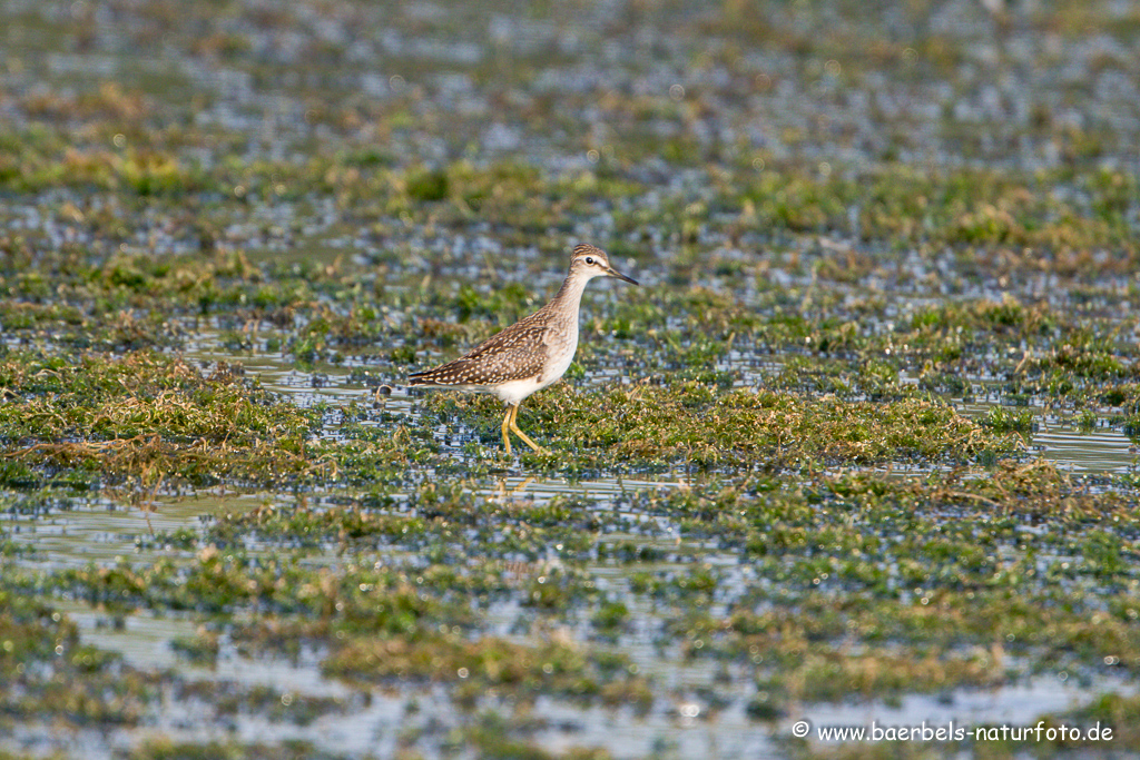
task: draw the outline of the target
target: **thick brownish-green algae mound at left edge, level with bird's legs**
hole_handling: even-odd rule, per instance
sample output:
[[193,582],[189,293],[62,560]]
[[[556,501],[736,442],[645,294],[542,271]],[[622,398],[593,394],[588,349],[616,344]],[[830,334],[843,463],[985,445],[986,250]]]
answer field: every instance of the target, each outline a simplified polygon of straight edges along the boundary
[[205,376],[148,352],[78,363],[8,353],[0,383],[9,394],[0,407],[5,457],[22,479],[72,471],[154,489],[169,479],[266,480],[319,466],[304,453],[314,416],[275,402],[227,366]]

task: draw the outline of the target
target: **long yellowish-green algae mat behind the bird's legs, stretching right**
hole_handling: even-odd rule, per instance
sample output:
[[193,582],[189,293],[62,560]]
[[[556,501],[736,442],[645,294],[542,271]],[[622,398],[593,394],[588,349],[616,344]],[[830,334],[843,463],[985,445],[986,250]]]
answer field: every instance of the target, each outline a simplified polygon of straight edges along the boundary
[[[429,403],[441,420],[494,406],[465,397]],[[718,393],[698,382],[601,392],[561,386],[536,397],[528,412],[535,422],[524,424],[557,430],[553,446],[577,452],[586,467],[626,460],[764,467],[813,460],[963,461],[986,450],[1020,450],[1018,442],[987,434],[952,407],[919,398],[872,403],[772,391]],[[604,453],[583,456],[591,451]]]

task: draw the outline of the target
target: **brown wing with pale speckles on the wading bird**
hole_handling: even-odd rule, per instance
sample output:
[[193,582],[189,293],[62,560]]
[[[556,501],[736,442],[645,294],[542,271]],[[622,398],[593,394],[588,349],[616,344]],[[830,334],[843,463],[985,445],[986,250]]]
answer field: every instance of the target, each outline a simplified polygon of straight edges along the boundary
[[546,365],[547,325],[531,314],[492,335],[466,356],[408,376],[408,385],[498,385],[537,377]]

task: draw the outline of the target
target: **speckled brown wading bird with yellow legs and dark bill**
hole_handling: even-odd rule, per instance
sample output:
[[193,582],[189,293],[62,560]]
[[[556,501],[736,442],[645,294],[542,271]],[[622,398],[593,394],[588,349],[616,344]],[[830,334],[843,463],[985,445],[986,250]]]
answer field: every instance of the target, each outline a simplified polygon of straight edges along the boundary
[[466,356],[408,376],[408,385],[450,387],[494,393],[506,404],[503,444],[511,453],[513,432],[535,451],[544,451],[519,430],[519,404],[562,377],[578,350],[578,311],[586,283],[595,277],[616,277],[637,285],[610,267],[601,248],[581,244],[570,254],[570,271],[562,287],[545,307],[494,335]]

